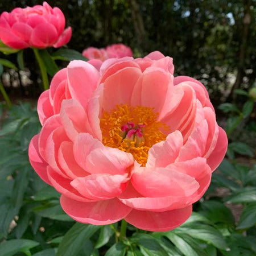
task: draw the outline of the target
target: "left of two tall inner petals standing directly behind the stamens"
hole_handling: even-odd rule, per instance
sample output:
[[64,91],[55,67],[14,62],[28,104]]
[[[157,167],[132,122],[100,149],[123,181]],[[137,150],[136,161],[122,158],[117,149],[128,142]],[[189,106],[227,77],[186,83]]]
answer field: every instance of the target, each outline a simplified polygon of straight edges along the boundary
[[130,105],[134,85],[140,76],[141,69],[133,67],[123,68],[112,76],[109,76],[104,82],[102,108],[109,112],[116,105]]

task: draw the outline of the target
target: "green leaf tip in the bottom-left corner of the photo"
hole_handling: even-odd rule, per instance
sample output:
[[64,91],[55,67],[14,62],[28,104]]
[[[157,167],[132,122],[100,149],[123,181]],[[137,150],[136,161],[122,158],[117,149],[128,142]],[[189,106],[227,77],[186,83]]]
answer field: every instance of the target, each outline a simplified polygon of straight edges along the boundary
[[26,239],[14,239],[0,244],[1,256],[12,256],[15,253],[23,252],[27,255],[28,250],[39,245],[38,242]]

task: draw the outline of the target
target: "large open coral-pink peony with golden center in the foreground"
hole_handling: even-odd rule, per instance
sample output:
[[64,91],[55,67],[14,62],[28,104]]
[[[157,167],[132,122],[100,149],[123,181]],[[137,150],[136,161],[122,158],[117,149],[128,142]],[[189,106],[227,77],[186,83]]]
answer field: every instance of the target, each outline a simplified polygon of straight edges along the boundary
[[208,93],[160,52],[97,68],[71,61],[40,96],[32,167],[76,221],[174,229],[226,152]]

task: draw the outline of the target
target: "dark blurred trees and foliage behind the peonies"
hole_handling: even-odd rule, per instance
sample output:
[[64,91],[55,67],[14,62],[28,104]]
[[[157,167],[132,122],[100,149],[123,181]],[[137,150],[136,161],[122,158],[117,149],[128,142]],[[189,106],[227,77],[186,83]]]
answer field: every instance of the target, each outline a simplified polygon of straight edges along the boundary
[[[0,3],[0,12],[42,2],[6,0]],[[122,42],[133,49],[135,57],[161,51],[174,57],[176,75],[202,81],[216,104],[234,101],[238,97],[235,89],[247,91],[255,83],[256,26],[252,0],[48,0],[48,3],[58,6],[67,24],[72,26],[69,48],[81,52],[89,46]],[[25,56],[25,63],[33,70],[31,60],[32,54]],[[35,81],[36,75],[31,73]],[[39,93],[40,89],[32,92],[35,96]],[[31,92],[26,94],[30,96]],[[240,98],[236,100],[239,102]]]

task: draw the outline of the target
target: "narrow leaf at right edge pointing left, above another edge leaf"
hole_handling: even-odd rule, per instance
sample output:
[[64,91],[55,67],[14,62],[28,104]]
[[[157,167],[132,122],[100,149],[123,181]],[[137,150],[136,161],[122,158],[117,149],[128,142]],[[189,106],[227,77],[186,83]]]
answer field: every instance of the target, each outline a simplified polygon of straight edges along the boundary
[[232,195],[225,197],[225,201],[233,204],[256,202],[256,187],[245,187],[238,189]]

